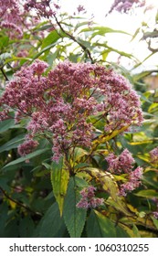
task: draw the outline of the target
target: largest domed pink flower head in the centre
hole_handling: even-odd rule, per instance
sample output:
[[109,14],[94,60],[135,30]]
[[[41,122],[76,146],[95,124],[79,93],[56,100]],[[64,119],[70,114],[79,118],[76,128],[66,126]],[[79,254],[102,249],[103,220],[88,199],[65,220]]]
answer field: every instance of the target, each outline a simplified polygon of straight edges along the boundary
[[[100,116],[105,135],[142,124],[139,96],[121,75],[99,65],[68,61],[44,76],[46,69],[47,63],[37,59],[16,72],[0,98],[0,119],[13,110],[16,122],[28,117],[27,132],[48,137],[54,160],[69,148],[90,148]],[[94,123],[91,115],[96,116]]]

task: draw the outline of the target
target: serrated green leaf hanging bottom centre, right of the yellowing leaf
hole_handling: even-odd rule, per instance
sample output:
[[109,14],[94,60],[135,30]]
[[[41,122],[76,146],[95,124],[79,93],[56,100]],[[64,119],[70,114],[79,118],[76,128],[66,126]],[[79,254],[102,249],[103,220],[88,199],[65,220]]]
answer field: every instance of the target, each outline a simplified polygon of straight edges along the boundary
[[75,177],[68,183],[68,193],[64,202],[63,216],[71,238],[79,238],[86,221],[86,209],[77,208],[79,192],[76,187]]

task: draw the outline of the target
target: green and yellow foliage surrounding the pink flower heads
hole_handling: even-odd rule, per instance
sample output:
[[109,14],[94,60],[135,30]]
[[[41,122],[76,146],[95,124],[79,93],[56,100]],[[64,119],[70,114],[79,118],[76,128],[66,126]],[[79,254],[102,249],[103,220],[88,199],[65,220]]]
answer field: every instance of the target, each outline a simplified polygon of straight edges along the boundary
[[[1,1],[3,2],[3,1]],[[18,2],[18,1],[17,1]],[[27,1],[30,2],[30,1]],[[36,2],[36,1],[33,1]],[[115,1],[116,2],[116,1]],[[18,4],[23,4],[19,1]],[[12,6],[14,5],[14,1]],[[71,176],[68,190],[64,195],[62,216],[58,204],[61,200],[61,189],[58,173],[63,174],[63,165],[51,162],[51,147],[45,139],[39,139],[37,150],[24,157],[19,157],[17,146],[24,142],[26,123],[15,123],[14,119],[0,123],[0,236],[1,237],[157,237],[158,220],[153,212],[157,212],[158,200],[158,162],[153,163],[149,152],[158,146],[158,91],[150,90],[144,82],[144,77],[157,74],[154,69],[139,72],[142,62],[137,56],[113,48],[107,41],[109,34],[126,34],[125,31],[103,27],[87,20],[83,16],[84,9],[78,9],[74,16],[60,12],[58,5],[53,6],[55,14],[52,18],[45,11],[34,5],[26,13],[21,13],[23,23],[12,20],[22,31],[20,37],[14,37],[9,27],[3,27],[8,16],[0,19],[0,80],[1,93],[5,90],[7,80],[12,80],[16,70],[33,63],[35,59],[47,62],[48,69],[56,67],[58,62],[68,59],[71,62],[91,62],[115,69],[132,83],[133,88],[141,96],[144,122],[142,127],[132,132],[121,133],[111,139],[108,147],[115,154],[121,154],[127,148],[135,160],[135,165],[143,167],[142,185],[129,193],[127,197],[117,197],[115,185],[111,176],[103,182],[104,191],[98,189],[97,196],[106,201],[99,208],[77,208],[79,191],[92,184],[101,183],[98,171],[91,171],[91,176],[85,174]],[[134,7],[133,7],[134,8]],[[131,8],[130,10],[133,9]],[[121,12],[130,10],[122,9]],[[145,14],[145,8],[142,8]],[[109,14],[111,15],[111,13]],[[158,16],[155,16],[154,27],[142,23],[132,40],[142,36],[146,48],[150,51],[148,57],[157,54],[156,40]],[[19,31],[17,31],[19,32]],[[16,33],[16,32],[15,32]],[[108,60],[111,52],[117,53],[119,59],[132,60],[132,69],[126,69],[119,62]],[[47,69],[47,72],[48,72]],[[136,71],[135,71],[136,70]],[[3,111],[3,109],[2,109]],[[107,150],[107,144],[100,146]],[[84,150],[80,149],[77,163],[83,166]],[[105,154],[106,155],[106,154]],[[91,159],[90,166],[99,165],[100,173],[107,169],[105,155]],[[29,163],[27,163],[29,159]],[[50,178],[50,173],[58,182]],[[52,189],[52,183],[53,189]],[[109,193],[105,192],[109,191]],[[59,196],[58,196],[59,193]]]

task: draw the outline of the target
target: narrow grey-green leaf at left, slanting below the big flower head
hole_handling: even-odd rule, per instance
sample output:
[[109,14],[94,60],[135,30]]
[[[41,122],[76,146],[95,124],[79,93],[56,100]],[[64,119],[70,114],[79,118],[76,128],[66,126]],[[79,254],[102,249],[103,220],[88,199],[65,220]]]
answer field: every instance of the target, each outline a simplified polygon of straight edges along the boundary
[[37,156],[37,155],[41,155],[41,154],[47,152],[48,150],[49,150],[48,148],[39,149],[39,150],[37,150],[37,151],[35,151],[35,152],[33,152],[33,153],[30,153],[30,154],[28,154],[28,155],[26,155],[26,156],[22,156],[22,157],[20,157],[20,158],[18,158],[18,159],[16,159],[16,160],[10,162],[9,164],[5,165],[5,166],[3,167],[3,169],[5,170],[5,169],[6,169],[7,167],[9,167],[9,166],[17,165],[17,164],[20,164],[20,163],[22,163],[22,162],[25,162],[26,160],[31,159],[31,158],[33,158],[33,157],[35,157],[35,156]]

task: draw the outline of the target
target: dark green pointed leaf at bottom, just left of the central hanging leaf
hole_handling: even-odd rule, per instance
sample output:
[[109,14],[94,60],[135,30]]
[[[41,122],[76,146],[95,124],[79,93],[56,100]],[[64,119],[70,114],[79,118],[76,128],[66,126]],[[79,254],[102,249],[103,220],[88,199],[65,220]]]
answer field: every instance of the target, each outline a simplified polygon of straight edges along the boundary
[[60,217],[58,204],[54,203],[40,220],[35,236],[39,238],[61,238],[65,231],[66,226],[63,218]]

